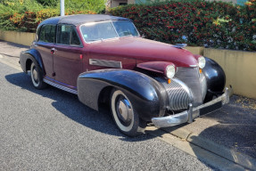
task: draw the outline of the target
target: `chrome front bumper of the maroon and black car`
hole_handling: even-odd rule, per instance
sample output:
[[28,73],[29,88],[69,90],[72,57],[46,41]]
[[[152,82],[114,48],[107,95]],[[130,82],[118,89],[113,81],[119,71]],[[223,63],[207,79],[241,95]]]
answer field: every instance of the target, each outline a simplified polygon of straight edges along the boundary
[[192,103],[189,103],[186,111],[167,117],[152,118],[152,122],[156,127],[177,126],[186,122],[192,123],[194,118],[198,118],[203,114],[211,113],[211,111],[218,110],[224,104],[227,104],[229,102],[230,95],[231,91],[226,87],[224,94],[211,102],[206,102],[195,108],[193,108]]

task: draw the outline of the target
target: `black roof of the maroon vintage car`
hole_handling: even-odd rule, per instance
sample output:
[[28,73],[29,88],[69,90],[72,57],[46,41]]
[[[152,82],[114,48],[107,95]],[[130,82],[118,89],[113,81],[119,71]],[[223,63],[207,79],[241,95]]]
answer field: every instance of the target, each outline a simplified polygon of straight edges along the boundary
[[78,15],[65,15],[60,17],[52,17],[46,20],[43,20],[40,25],[44,24],[73,24],[80,25],[86,22],[99,22],[105,20],[129,20],[123,17],[116,17],[111,15],[103,15],[103,14],[78,14]]

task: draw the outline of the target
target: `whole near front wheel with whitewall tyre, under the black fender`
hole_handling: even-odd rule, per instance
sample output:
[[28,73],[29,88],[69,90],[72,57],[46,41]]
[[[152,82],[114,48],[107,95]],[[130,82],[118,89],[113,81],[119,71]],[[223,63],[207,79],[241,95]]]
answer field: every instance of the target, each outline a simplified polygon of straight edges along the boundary
[[111,94],[111,113],[116,125],[123,134],[136,136],[143,134],[146,122],[138,117],[126,94],[113,90]]

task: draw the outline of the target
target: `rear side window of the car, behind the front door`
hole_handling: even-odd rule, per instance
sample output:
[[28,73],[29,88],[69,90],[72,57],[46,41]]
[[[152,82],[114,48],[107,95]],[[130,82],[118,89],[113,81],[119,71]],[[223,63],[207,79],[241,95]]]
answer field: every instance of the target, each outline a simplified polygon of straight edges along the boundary
[[55,37],[55,26],[54,25],[44,25],[40,29],[39,40],[40,42],[54,43]]

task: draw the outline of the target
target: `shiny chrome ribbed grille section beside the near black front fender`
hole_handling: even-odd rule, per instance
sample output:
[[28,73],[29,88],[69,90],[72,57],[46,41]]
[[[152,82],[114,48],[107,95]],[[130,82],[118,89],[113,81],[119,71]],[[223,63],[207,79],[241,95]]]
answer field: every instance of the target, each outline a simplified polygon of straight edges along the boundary
[[187,109],[189,102],[192,101],[191,93],[186,85],[182,84],[178,79],[171,79],[170,84],[166,79],[157,77],[159,81],[166,89],[169,95],[169,109],[170,110],[184,110]]

